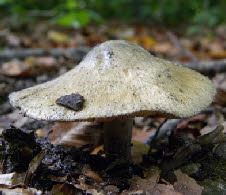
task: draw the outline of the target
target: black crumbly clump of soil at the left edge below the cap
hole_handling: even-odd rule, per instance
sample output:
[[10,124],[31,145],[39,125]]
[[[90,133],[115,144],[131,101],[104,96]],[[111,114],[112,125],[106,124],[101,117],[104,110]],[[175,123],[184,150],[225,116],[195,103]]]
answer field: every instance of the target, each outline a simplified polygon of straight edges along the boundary
[[0,160],[3,173],[24,172],[30,161],[41,151],[41,144],[33,131],[15,127],[5,129],[0,137]]

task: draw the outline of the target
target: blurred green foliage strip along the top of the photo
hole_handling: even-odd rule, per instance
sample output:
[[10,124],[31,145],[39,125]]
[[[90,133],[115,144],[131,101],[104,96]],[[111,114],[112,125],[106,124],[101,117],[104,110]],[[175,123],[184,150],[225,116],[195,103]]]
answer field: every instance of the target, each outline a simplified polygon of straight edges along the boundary
[[50,24],[79,28],[120,20],[186,25],[193,32],[225,22],[225,4],[225,0],[0,0],[0,17],[12,25],[47,19]]

